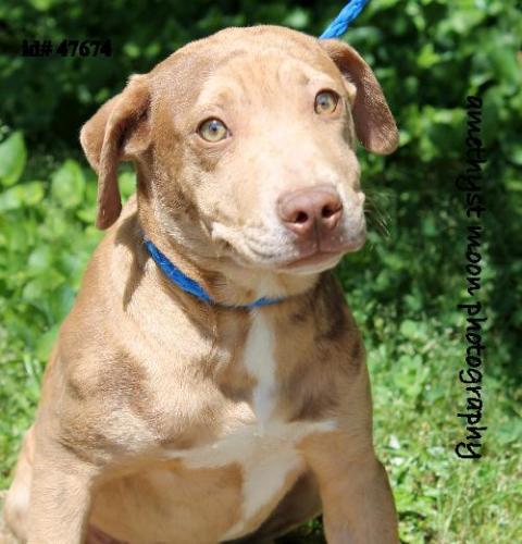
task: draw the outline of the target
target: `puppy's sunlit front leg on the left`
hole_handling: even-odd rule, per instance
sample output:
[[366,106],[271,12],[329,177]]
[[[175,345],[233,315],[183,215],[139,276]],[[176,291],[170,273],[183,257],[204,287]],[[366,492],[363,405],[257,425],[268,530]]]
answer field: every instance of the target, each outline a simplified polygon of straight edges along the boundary
[[38,444],[28,544],[82,544],[98,469],[59,444]]

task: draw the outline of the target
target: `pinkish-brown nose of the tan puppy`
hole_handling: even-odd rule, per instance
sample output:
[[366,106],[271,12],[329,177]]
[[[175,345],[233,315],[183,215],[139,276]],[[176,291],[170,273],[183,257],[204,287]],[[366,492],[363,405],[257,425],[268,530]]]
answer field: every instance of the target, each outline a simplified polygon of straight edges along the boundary
[[343,202],[333,187],[318,185],[282,195],[277,211],[287,228],[307,237],[333,231],[343,215]]

